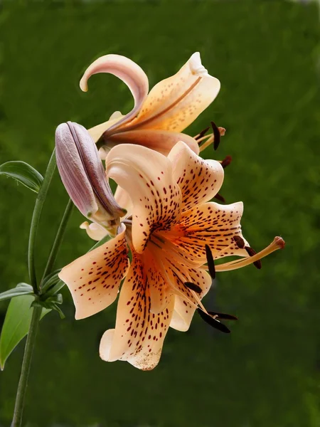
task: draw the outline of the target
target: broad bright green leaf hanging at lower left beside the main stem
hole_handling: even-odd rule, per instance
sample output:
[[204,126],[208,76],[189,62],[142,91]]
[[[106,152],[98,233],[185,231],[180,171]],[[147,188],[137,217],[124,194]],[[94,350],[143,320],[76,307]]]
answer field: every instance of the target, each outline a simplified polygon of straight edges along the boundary
[[[6,359],[10,356],[14,348],[26,337],[30,327],[33,308],[31,304],[34,297],[31,295],[21,295],[10,301],[4,326],[0,337],[0,368],[4,370]],[[43,308],[41,318],[50,310]]]

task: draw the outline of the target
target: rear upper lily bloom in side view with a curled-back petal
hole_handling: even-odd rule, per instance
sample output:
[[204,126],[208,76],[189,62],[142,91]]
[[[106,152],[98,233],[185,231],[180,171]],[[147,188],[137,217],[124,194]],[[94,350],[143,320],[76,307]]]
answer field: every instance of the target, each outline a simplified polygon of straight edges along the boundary
[[[213,102],[220,90],[219,80],[203,67],[200,53],[193,53],[178,73],[159,82],[149,94],[146,74],[129,58],[105,55],[95,60],[80,80],[83,91],[87,91],[90,76],[97,73],[116,75],[134,97],[134,108],[127,115],[115,112],[109,121],[89,130],[98,147],[102,147],[102,157],[108,149],[122,143],[144,145],[167,155],[178,141],[198,154],[202,139],[198,142],[181,132]],[[223,135],[223,128],[221,132]]]

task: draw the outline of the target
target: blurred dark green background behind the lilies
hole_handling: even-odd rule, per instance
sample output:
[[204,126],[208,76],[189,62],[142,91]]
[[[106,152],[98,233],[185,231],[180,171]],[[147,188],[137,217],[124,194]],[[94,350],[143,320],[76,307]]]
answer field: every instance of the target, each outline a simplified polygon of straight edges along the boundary
[[[218,152],[230,154],[222,194],[242,200],[242,226],[260,250],[281,235],[284,251],[218,275],[206,306],[239,317],[230,336],[195,317],[170,330],[159,367],[142,372],[102,362],[102,333],[116,305],[74,320],[41,321],[26,399],[28,426],[319,427],[319,11],[287,1],[46,1],[1,8],[0,160],[21,159],[45,172],[55,127],[91,127],[132,98],[110,75],[78,81],[106,53],[136,60],[150,85],[172,75],[194,51],[222,83],[220,95],[190,128],[226,127]],[[1,177],[0,290],[28,281],[26,251],[35,196]],[[58,174],[38,238],[38,268],[67,201]],[[75,212],[58,266],[91,246]],[[6,302],[0,303],[0,324]],[[0,425],[9,426],[23,344],[0,373]]]

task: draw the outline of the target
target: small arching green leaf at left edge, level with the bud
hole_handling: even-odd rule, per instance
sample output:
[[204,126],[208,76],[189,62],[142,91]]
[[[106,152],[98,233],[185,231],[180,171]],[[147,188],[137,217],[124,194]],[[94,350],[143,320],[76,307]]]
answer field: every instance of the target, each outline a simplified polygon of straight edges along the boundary
[[0,166],[0,175],[4,174],[16,179],[16,181],[28,187],[28,189],[38,193],[43,176],[30,164],[20,161],[6,162]]

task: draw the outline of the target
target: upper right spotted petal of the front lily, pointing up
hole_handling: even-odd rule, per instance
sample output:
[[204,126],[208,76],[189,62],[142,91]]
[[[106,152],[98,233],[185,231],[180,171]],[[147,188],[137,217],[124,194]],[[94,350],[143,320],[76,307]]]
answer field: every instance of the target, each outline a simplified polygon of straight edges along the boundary
[[213,199],[220,190],[224,177],[220,162],[201,159],[183,142],[171,149],[168,159],[181,189],[183,211]]

